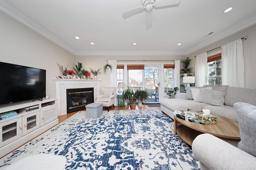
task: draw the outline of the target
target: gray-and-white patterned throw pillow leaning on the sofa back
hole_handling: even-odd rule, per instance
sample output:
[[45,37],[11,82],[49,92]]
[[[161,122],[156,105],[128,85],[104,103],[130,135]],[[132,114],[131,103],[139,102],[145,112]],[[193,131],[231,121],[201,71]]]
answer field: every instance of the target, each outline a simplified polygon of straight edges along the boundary
[[211,104],[213,106],[223,106],[225,101],[225,94],[226,92],[210,90],[207,88],[200,88],[200,92],[195,101]]

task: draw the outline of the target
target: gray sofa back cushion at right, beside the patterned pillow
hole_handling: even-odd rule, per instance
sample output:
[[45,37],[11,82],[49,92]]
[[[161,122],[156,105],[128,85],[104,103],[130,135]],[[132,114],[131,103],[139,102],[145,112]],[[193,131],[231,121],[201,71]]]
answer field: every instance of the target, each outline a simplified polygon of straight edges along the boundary
[[226,91],[225,105],[234,106],[236,102],[256,106],[256,88],[229,87]]

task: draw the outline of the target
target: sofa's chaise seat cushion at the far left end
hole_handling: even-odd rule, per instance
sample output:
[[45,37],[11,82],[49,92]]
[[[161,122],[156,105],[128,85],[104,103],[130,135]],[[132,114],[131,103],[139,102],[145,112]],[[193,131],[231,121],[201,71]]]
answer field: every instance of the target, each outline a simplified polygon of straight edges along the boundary
[[187,109],[192,109],[193,111],[202,111],[202,107],[205,103],[194,102],[193,100],[184,100],[184,99],[160,99],[160,104],[167,107],[168,109],[175,111],[180,110],[184,111]]

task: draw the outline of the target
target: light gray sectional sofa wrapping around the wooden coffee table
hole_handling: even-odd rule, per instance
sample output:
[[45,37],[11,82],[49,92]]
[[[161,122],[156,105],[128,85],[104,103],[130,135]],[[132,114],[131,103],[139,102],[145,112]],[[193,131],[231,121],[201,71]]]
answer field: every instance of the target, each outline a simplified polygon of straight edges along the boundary
[[[208,87],[207,85],[203,88]],[[210,109],[211,114],[238,121],[241,141],[238,148],[210,134],[198,135],[192,143],[193,155],[200,161],[201,170],[256,169],[256,89],[230,86],[211,86],[225,92],[224,105],[212,106],[192,100],[191,88],[186,99],[161,99],[161,110],[173,118],[173,111]]]

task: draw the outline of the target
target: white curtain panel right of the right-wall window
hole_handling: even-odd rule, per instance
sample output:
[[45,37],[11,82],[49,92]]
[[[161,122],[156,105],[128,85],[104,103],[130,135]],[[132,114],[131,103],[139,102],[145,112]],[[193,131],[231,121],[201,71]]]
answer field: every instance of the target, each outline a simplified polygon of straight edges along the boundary
[[241,39],[221,46],[222,84],[244,87],[244,56]]

